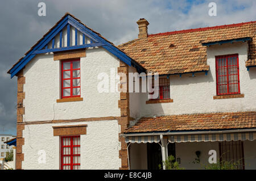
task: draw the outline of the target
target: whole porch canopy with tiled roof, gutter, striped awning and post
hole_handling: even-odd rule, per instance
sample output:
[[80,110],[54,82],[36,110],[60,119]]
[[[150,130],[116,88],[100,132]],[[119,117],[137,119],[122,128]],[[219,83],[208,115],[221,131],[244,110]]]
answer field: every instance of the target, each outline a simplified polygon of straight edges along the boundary
[[165,161],[168,144],[174,142],[256,140],[255,120],[256,111],[142,117],[123,136],[128,148],[134,143],[158,143]]

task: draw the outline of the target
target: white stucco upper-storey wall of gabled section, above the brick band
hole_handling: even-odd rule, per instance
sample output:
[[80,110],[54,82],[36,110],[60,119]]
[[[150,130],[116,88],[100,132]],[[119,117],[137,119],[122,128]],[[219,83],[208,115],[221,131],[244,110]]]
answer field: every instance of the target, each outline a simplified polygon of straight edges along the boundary
[[[117,73],[119,60],[103,48],[86,50],[80,60],[80,102],[56,103],[60,99],[60,61],[53,61],[53,54],[37,55],[24,69],[25,115],[23,121],[53,119],[78,119],[82,117],[120,116],[119,92],[99,93],[99,73],[114,68]],[[109,81],[110,82],[110,81]]]

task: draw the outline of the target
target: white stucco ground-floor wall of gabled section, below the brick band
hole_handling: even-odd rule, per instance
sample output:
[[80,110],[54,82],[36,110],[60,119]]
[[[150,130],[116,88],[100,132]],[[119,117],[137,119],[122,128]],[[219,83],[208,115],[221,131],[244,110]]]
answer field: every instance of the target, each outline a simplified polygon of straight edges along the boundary
[[[117,120],[88,121],[79,123],[26,125],[22,151],[22,169],[59,169],[60,137],[53,136],[52,126],[87,124],[86,134],[81,135],[81,169],[119,169]],[[38,163],[38,151],[46,151],[46,163]]]

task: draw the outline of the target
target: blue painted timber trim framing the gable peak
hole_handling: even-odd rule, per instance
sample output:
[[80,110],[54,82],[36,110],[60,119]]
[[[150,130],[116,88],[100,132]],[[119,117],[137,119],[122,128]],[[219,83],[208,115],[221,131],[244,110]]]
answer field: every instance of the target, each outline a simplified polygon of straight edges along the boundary
[[47,46],[49,41],[52,41],[52,39],[57,35],[57,33],[61,32],[65,26],[70,24],[71,26],[75,27],[78,31],[84,33],[86,36],[88,36],[91,40],[94,41],[89,45],[78,45],[78,46],[72,46],[72,47],[61,47],[61,48],[55,48],[55,49],[49,49],[53,50],[54,52],[60,51],[60,50],[70,50],[70,49],[79,49],[79,48],[86,48],[86,47],[99,47],[108,50],[110,53],[114,54],[119,60],[125,62],[125,64],[129,66],[134,66],[139,73],[145,72],[146,69],[144,69],[141,65],[139,65],[136,61],[131,59],[127,54],[123,53],[121,50],[119,50],[117,47],[103,39],[101,36],[97,35],[97,33],[93,32],[89,28],[85,27],[83,24],[79,23],[76,19],[74,19],[72,16],[67,15],[51,32],[48,33],[46,37],[44,37],[43,40],[41,40],[28,54],[22,58],[18,64],[16,64],[11,70],[11,78],[13,78],[20,70],[24,68],[36,56],[38,53],[46,53],[49,52],[49,50],[43,49]]

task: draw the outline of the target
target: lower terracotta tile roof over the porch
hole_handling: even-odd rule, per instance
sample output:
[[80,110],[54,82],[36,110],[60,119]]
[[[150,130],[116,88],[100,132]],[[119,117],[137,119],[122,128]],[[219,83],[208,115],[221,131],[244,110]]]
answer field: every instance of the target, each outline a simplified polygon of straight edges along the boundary
[[256,111],[142,117],[125,133],[256,128]]

